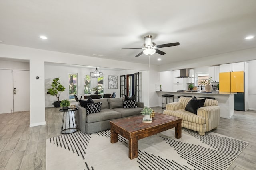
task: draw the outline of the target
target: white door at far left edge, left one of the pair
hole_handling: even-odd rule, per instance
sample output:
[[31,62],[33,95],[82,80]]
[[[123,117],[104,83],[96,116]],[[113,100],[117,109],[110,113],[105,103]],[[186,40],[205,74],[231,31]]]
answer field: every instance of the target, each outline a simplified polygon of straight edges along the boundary
[[12,70],[0,69],[0,77],[2,79],[0,83],[0,89],[1,89],[0,113],[12,113],[13,112]]

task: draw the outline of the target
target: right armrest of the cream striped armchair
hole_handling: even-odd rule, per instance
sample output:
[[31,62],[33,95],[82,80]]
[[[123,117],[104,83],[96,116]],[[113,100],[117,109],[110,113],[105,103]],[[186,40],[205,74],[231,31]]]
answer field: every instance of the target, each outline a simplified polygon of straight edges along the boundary
[[197,110],[197,115],[205,117],[206,131],[218,127],[220,123],[220,106],[205,106]]

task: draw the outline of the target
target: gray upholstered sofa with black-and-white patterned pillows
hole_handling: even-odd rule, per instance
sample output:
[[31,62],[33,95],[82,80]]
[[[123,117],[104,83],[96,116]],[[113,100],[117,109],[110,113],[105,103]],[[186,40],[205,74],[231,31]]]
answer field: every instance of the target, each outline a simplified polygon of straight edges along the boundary
[[120,119],[122,117],[129,117],[140,115],[140,111],[144,107],[143,102],[136,102],[137,108],[124,109],[122,98],[101,98],[93,99],[94,103],[102,102],[101,111],[98,113],[86,114],[86,109],[80,104],[76,104],[78,110],[76,111],[76,121],[78,128],[83,133],[94,133],[110,129],[109,121]]

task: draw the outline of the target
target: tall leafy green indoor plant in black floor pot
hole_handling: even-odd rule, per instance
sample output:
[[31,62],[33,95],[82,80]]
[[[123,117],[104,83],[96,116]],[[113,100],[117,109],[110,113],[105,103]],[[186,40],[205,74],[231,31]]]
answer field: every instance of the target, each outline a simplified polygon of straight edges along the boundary
[[56,96],[58,101],[53,102],[54,107],[60,107],[60,94],[65,91],[65,87],[60,82],[59,78],[54,78],[52,80],[52,88],[48,88],[48,93],[52,96]]

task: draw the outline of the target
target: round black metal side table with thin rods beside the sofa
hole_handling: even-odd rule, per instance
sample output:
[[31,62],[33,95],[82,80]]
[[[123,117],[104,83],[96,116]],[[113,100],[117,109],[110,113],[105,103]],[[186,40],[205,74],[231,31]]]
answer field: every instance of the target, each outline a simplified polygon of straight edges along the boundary
[[[75,111],[78,108],[68,108],[68,110],[60,109],[63,112],[61,131],[62,134],[69,134],[78,131],[77,123],[76,123],[76,115]],[[64,125],[65,122],[65,125]],[[64,127],[65,126],[65,127]]]

